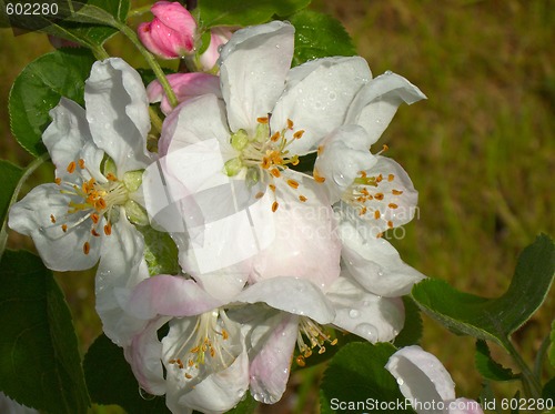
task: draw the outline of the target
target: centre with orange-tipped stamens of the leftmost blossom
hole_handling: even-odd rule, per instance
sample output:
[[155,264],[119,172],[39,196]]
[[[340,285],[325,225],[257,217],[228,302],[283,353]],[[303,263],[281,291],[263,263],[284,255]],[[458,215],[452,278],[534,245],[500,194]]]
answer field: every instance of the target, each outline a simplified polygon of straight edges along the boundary
[[[78,163],[71,161],[68,164],[67,171],[72,175],[75,174],[77,179],[73,180],[73,182],[68,182],[57,178],[56,183],[61,188],[60,192],[62,194],[72,196],[72,200],[68,203],[69,209],[64,219],[70,218],[71,214],[84,213],[84,215],[72,223],[71,226],[68,226],[67,223],[62,223],[60,225],[62,232],[67,233],[80,226],[89,219],[91,220],[90,236],[89,240],[83,243],[83,253],[89,254],[91,250],[91,236],[99,238],[101,231],[103,231],[105,235],[112,234],[112,220],[114,219],[112,209],[118,205],[123,205],[129,200],[129,190],[113,173],[107,174],[105,182],[99,182],[94,178],[87,179],[87,176],[83,175],[83,170],[88,171],[84,160],[80,159]],[[89,176],[92,176],[90,172]],[[100,230],[99,226],[101,225],[102,218],[105,219],[105,224],[103,229]],[[50,221],[56,224],[59,219],[50,214]]]

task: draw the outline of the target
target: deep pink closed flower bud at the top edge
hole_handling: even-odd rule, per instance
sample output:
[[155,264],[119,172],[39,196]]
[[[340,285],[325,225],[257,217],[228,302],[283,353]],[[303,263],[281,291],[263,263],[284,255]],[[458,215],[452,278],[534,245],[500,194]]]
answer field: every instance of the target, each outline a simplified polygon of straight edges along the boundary
[[176,59],[194,51],[196,22],[179,2],[158,1],[150,9],[154,19],[139,24],[139,39],[152,53]]

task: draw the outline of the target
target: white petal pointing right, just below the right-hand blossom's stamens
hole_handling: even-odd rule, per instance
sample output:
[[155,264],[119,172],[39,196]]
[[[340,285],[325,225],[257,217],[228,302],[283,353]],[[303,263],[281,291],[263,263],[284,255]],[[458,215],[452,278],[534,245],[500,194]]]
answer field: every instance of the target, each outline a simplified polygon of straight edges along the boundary
[[[365,228],[361,223],[359,228]],[[349,273],[369,292],[397,297],[411,292],[425,276],[405,264],[395,248],[385,239],[364,238],[350,221],[340,224],[343,241],[341,256]]]

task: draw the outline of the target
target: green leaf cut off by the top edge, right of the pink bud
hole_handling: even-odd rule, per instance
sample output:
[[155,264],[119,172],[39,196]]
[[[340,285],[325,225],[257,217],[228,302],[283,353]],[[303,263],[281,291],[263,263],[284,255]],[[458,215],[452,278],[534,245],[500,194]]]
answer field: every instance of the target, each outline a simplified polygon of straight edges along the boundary
[[201,23],[214,26],[251,26],[269,21],[273,16],[290,16],[309,6],[311,0],[202,0],[199,6]]

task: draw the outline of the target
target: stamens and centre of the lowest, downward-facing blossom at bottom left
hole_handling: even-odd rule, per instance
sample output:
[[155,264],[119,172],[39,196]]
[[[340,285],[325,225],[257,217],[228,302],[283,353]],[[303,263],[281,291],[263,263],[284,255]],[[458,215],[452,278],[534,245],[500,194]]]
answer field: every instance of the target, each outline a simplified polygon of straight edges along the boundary
[[225,325],[230,323],[223,310],[206,312],[196,319],[196,324],[182,345],[168,361],[180,370],[185,380],[192,380],[200,370],[221,371],[235,360],[232,341]]

